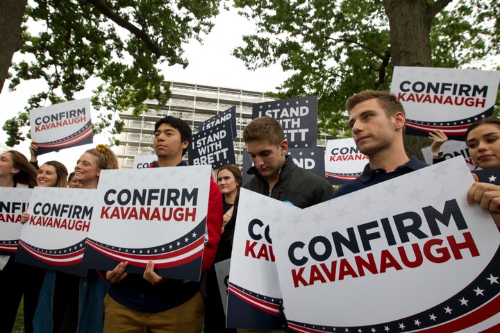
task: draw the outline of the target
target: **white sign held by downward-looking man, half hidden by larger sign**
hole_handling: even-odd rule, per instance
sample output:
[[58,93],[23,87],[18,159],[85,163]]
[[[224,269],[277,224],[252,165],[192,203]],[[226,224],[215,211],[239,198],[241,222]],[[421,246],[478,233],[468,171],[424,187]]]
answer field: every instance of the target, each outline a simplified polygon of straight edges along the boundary
[[300,209],[247,189],[240,189],[240,203],[229,272],[227,327],[281,328],[282,298],[267,216],[269,211]]

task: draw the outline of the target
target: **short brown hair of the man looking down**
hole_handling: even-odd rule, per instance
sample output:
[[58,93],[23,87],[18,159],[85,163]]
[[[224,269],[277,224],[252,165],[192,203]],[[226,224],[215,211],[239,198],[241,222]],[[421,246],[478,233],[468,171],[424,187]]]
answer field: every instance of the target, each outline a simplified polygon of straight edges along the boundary
[[267,140],[271,144],[279,146],[285,139],[285,133],[281,123],[271,117],[258,117],[253,119],[243,130],[243,141]]

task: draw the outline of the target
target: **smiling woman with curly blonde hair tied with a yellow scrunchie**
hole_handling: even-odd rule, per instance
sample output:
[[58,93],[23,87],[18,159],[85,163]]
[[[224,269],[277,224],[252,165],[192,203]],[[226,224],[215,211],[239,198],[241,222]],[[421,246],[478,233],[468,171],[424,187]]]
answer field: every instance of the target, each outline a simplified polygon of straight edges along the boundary
[[[110,148],[98,144],[78,159],[74,179],[83,189],[97,189],[105,169],[118,169],[118,160]],[[47,273],[33,321],[35,332],[102,332],[103,298],[108,287],[101,271],[88,270],[85,278]]]

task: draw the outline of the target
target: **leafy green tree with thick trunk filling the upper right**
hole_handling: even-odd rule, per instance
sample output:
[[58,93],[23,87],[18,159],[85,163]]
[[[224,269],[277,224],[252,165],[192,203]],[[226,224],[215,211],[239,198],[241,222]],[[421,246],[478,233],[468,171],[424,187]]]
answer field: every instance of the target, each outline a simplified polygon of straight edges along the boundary
[[500,51],[496,0],[235,0],[235,6],[258,29],[233,54],[249,69],[281,63],[293,74],[277,97],[319,96],[320,133],[340,137],[350,134],[345,101],[364,89],[389,89],[394,66],[473,68]]

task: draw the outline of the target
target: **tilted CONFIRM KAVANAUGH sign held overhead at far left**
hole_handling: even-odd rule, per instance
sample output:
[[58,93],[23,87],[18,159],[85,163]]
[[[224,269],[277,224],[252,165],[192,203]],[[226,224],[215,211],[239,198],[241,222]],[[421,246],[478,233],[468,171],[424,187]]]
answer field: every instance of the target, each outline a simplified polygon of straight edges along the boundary
[[58,103],[30,112],[31,139],[37,155],[92,143],[90,99]]

